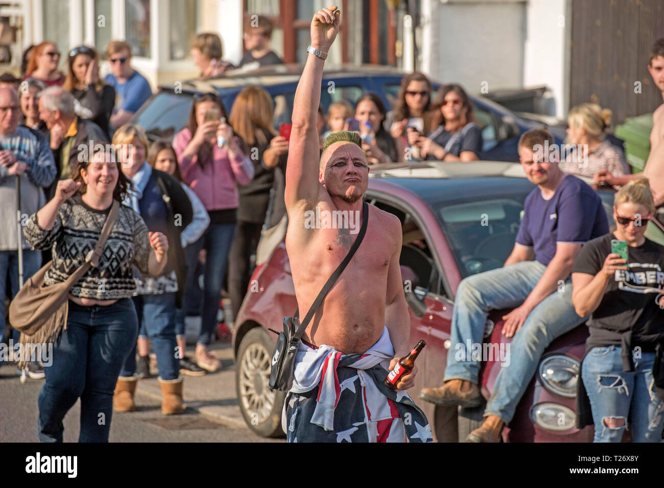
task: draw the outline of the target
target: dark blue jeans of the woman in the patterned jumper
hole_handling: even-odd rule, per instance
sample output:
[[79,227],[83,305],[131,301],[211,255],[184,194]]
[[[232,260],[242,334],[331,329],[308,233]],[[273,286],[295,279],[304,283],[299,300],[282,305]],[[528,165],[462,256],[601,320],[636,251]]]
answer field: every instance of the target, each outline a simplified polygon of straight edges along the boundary
[[69,302],[67,328],[53,344],[39,392],[39,440],[62,442],[62,419],[81,399],[78,442],[108,442],[113,391],[122,361],[136,341],[133,302],[123,298],[108,306]]

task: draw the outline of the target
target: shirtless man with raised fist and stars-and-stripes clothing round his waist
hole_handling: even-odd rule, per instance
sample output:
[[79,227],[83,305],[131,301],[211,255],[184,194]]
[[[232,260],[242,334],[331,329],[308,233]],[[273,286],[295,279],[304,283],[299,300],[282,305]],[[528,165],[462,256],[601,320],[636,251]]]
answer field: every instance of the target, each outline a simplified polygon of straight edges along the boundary
[[[315,211],[316,207],[320,208],[321,214],[325,211],[346,210],[349,213],[355,212],[361,222],[364,218],[362,196],[369,184],[367,158],[362,152],[361,140],[354,133],[340,132],[330,135],[319,160],[316,122],[323,64],[326,53],[339,32],[339,22],[340,13],[337,7],[321,9],[314,15],[311,22],[311,46],[315,49],[311,52],[309,48],[293,103],[293,128],[286,168],[285,200],[289,217],[286,250],[290,257],[301,318],[305,316],[357,237],[357,231],[353,233],[350,228],[309,229],[305,212]],[[329,144],[335,138],[339,141]],[[318,161],[319,164],[316,164]],[[394,414],[398,407],[403,417],[402,408],[417,407],[404,392],[398,395],[392,393],[390,398],[389,390],[382,385],[387,374],[384,368],[389,365],[389,369],[392,369],[398,359],[410,351],[410,318],[399,268],[401,239],[399,219],[369,206],[369,221],[363,242],[325,297],[303,335],[303,344],[300,345],[295,361],[293,389],[286,398],[284,412],[284,420],[290,418],[287,430],[289,441],[335,442],[336,439],[336,442],[341,442],[351,440],[352,434],[354,442],[380,442],[388,438],[390,441],[403,442],[406,434],[412,442],[408,427],[404,432],[403,422],[397,425],[400,422],[399,415],[390,416],[389,412],[392,410]],[[321,365],[330,357],[335,363],[327,370],[335,368],[338,375],[336,378],[337,375],[333,374],[331,381],[341,382],[341,387],[336,385],[339,387],[337,391],[341,390],[341,393],[337,393],[335,397],[334,388],[331,391],[331,412],[333,414],[336,407],[336,416],[330,415],[330,408],[317,406],[329,393],[323,391],[327,384],[325,368],[322,374],[320,368],[318,369],[317,375],[313,375],[313,381],[307,383],[302,379],[307,375],[311,376],[312,364]],[[367,361],[367,357],[378,359],[374,365],[367,367],[366,364],[361,364]],[[391,361],[388,362],[387,359]],[[305,371],[307,364],[310,369]],[[366,373],[359,372],[361,370]],[[402,378],[396,385],[397,388],[405,390],[412,387],[416,374],[417,366],[412,373]],[[374,381],[367,383],[367,378]],[[307,380],[309,379],[307,377]],[[319,383],[321,393],[317,387]],[[311,395],[307,396],[307,392],[312,391],[313,398],[309,398]],[[366,422],[366,429],[358,429],[360,424],[365,423],[362,419],[359,422],[352,422],[357,418],[351,419],[353,412],[357,413],[357,408],[361,405],[362,393],[365,394],[365,405],[362,408],[371,412],[371,421]],[[372,393],[375,394],[373,400]],[[384,402],[386,398],[390,398],[389,402],[392,402],[389,408],[376,403]],[[313,404],[309,402],[310,409],[307,400],[313,401]],[[400,402],[399,405],[394,401]],[[312,414],[314,408],[314,418],[309,422],[307,410]],[[327,410],[327,415],[321,414],[321,410]],[[378,418],[379,412],[388,412],[388,415]],[[321,415],[326,418],[321,420]],[[376,425],[380,424],[378,420],[381,418],[392,420],[387,422],[391,426],[391,432],[390,426],[386,432],[380,425]],[[424,423],[419,420],[414,440],[420,438],[426,441],[431,437],[428,424],[425,424],[426,418]],[[358,430],[359,433],[355,434]],[[376,438],[373,438],[374,435]]]

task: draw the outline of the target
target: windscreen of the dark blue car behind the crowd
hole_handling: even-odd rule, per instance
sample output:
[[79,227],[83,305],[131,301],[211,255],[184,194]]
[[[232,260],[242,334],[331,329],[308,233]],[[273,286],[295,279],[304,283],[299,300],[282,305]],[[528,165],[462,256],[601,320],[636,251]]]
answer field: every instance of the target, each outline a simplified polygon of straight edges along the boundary
[[175,133],[187,124],[192,99],[191,93],[161,91],[137,114],[133,123],[145,127],[151,141],[173,139]]

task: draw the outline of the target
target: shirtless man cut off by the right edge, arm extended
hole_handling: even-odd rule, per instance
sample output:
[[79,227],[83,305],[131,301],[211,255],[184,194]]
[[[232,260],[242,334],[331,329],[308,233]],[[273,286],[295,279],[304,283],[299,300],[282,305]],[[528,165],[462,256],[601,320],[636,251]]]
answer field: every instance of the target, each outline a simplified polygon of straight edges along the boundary
[[[661,91],[664,98],[664,37],[653,42],[650,51],[650,60],[648,62],[648,71],[653,77],[655,86]],[[612,176],[608,171],[598,172],[594,178],[598,184],[606,183],[612,186],[622,186],[629,180],[645,176],[650,181],[650,189],[655,199],[655,207],[661,208],[664,205],[664,103],[659,105],[653,112],[653,130],[650,133],[650,154],[645,162],[643,172],[636,174],[626,174],[624,176]],[[663,212],[661,209],[659,212]],[[659,217],[664,223],[664,219]]]

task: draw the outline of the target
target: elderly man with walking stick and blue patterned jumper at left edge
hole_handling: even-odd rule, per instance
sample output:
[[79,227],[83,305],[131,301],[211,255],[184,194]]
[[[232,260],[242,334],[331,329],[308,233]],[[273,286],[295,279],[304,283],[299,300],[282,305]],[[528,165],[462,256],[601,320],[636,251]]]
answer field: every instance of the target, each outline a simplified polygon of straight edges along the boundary
[[[48,142],[39,131],[19,126],[19,96],[13,88],[0,88],[0,342],[5,337],[5,286],[7,274],[13,298],[19,291],[19,236],[17,235],[16,175],[21,180],[21,213],[31,215],[46,203],[44,188],[55,178],[55,163]],[[41,252],[33,251],[21,236],[23,276],[27,279],[41,266]],[[15,343],[19,334],[14,333]],[[0,364],[2,358],[0,358]],[[29,363],[28,373],[43,378],[38,363]]]

